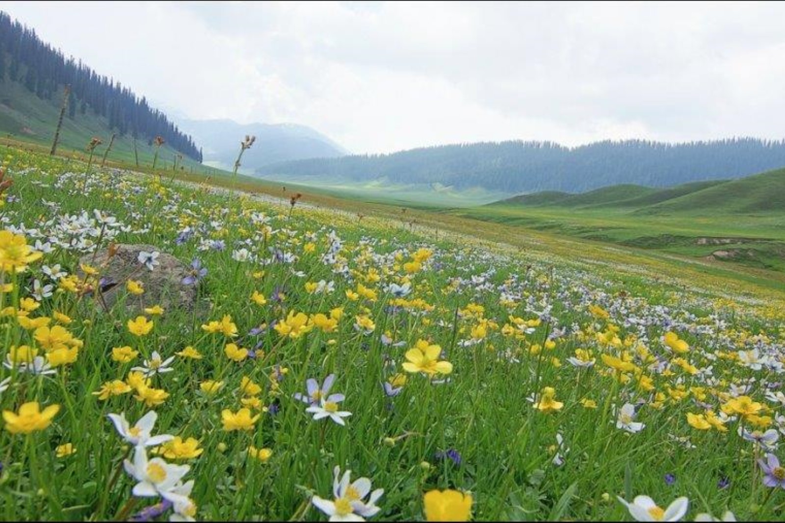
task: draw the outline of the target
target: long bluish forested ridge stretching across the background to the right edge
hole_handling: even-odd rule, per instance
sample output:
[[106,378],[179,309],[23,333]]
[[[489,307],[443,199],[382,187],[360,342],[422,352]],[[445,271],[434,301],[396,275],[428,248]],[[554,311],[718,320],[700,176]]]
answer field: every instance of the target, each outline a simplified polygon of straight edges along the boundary
[[303,183],[341,179],[433,184],[502,192],[584,192],[608,185],[672,187],[744,177],[785,166],[785,141],[733,138],[663,144],[601,141],[569,148],[553,142],[505,141],[418,148],[274,163],[257,173]]

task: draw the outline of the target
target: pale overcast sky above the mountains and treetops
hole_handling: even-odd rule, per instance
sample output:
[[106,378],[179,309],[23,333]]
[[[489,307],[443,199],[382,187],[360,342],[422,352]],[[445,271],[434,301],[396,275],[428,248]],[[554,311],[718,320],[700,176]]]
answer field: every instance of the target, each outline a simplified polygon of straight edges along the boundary
[[175,121],[300,123],[352,152],[785,137],[782,3],[0,0],[0,9]]

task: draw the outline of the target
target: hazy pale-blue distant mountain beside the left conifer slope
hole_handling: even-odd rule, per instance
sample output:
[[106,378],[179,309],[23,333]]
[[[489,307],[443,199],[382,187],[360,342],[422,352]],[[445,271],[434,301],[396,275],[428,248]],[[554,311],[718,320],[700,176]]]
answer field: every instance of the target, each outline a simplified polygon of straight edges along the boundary
[[310,127],[291,123],[250,123],[243,125],[229,119],[181,119],[181,127],[191,133],[203,147],[204,163],[232,170],[246,134],[256,137],[254,145],[243,154],[240,171],[254,170],[271,163],[306,158],[336,158],[346,150]]

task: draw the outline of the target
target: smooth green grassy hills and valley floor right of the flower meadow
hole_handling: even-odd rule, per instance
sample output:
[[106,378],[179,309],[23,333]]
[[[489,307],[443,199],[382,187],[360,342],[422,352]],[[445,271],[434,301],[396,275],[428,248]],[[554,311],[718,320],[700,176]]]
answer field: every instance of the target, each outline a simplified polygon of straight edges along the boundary
[[542,193],[457,212],[588,240],[785,270],[785,169],[612,199],[626,190],[616,186],[557,200]]

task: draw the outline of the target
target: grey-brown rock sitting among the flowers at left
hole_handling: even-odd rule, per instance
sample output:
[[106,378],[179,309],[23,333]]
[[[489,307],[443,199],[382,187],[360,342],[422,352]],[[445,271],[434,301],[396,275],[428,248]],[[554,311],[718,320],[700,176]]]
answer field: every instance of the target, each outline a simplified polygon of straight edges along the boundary
[[[108,249],[102,249],[95,257],[87,254],[79,259],[80,264],[98,271],[100,291],[92,295],[100,309],[112,309],[118,302],[130,315],[141,314],[145,307],[155,305],[166,311],[195,308],[197,286],[183,283],[191,273],[190,266],[171,254],[159,253],[152,245],[120,243],[113,248],[115,254],[111,258]],[[144,293],[135,295],[128,291],[129,280],[141,282]]]

